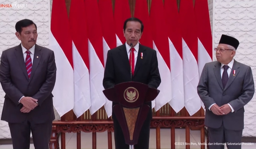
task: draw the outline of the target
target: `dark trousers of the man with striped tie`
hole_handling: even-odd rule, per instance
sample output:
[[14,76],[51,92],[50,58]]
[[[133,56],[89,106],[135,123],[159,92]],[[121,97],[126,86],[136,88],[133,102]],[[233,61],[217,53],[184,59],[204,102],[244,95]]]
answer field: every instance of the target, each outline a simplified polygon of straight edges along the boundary
[[29,149],[30,132],[32,133],[35,149],[49,149],[52,121],[43,124],[31,124],[29,121],[8,124],[13,149]]

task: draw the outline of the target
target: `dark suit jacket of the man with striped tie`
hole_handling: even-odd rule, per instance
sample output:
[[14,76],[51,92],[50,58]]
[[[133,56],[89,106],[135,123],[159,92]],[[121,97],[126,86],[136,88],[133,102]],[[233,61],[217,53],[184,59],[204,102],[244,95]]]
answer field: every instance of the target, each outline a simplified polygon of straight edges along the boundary
[[[38,56],[38,57],[37,57]],[[1,120],[13,123],[25,120],[38,124],[55,119],[51,94],[56,79],[54,52],[35,45],[30,79],[28,79],[21,44],[4,50],[0,63],[0,82],[6,93]],[[29,113],[22,113],[19,99],[29,96],[39,105]]]

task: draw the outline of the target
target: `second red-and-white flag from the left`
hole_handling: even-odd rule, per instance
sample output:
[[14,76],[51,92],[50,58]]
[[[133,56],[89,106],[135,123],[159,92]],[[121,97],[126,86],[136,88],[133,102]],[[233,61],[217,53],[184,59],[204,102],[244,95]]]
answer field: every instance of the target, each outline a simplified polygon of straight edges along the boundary
[[[81,19],[84,18],[84,19]],[[72,32],[75,99],[73,111],[80,117],[91,106],[88,37],[84,0],[71,1],[69,22]]]

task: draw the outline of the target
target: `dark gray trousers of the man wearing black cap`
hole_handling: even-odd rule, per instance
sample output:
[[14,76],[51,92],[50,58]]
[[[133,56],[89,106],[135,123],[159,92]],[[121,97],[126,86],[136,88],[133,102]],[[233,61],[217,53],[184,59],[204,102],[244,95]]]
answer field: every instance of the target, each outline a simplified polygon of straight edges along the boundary
[[[234,124],[235,125],[235,124]],[[241,149],[243,130],[228,130],[223,127],[208,127],[209,149]]]

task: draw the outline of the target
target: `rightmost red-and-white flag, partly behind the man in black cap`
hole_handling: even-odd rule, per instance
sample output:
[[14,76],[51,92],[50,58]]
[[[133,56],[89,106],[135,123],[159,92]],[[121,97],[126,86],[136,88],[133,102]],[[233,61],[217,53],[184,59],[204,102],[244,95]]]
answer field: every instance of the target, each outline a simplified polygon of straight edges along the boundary
[[[205,63],[212,62],[212,35],[211,24],[208,10],[208,2],[205,0],[195,1],[195,16],[196,27],[198,35],[198,69],[199,78],[201,77],[202,70]],[[203,109],[205,109],[204,103],[201,101]]]

